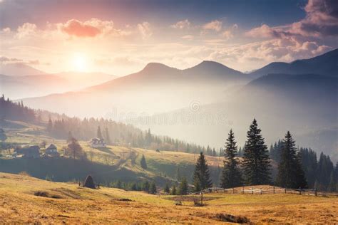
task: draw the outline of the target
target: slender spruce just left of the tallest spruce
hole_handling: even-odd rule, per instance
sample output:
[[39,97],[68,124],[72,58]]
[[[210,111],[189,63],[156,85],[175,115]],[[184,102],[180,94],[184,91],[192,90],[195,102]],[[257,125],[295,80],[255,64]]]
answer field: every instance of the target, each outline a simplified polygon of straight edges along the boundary
[[242,184],[242,177],[240,169],[238,168],[239,163],[235,158],[236,156],[237,145],[235,142],[235,136],[232,130],[230,130],[224,150],[225,160],[223,162],[224,167],[220,182],[222,188],[239,187]]

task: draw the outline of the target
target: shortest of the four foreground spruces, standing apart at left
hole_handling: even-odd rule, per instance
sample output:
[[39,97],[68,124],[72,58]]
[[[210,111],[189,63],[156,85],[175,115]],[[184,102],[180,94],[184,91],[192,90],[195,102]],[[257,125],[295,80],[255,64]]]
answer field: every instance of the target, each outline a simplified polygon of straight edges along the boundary
[[[212,182],[210,180],[210,172],[207,164],[207,160],[203,155],[203,152],[200,152],[200,157],[196,162],[195,172],[194,172],[194,184],[198,182],[200,184],[200,189],[206,189],[212,187]],[[200,190],[196,190],[198,192]]]

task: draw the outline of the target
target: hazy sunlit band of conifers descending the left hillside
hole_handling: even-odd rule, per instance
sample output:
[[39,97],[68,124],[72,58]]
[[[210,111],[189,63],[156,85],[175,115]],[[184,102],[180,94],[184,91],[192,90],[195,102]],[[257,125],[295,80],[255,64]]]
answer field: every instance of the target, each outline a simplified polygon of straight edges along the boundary
[[0,98],[0,122],[3,120],[19,120],[38,123],[45,126],[51,137],[67,139],[69,132],[76,140],[90,140],[99,137],[108,145],[140,147],[149,150],[167,150],[178,152],[205,152],[207,155],[217,155],[215,148],[203,147],[194,143],[184,142],[168,136],[153,135],[150,130],[140,130],[133,125],[126,125],[108,119],[68,117],[64,114],[47,110],[34,110],[24,105],[22,101],[14,103]]

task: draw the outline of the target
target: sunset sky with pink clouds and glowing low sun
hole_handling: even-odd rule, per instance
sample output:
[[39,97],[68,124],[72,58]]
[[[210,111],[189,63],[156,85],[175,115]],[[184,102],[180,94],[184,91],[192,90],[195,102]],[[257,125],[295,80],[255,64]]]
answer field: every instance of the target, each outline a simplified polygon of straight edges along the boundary
[[0,63],[127,75],[217,61],[247,72],[338,48],[337,0],[0,0]]

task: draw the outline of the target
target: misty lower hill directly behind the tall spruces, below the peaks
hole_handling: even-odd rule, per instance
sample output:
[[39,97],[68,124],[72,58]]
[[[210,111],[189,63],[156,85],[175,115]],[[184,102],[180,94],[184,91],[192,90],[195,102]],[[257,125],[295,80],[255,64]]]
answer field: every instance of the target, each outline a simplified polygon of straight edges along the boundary
[[[290,130],[297,145],[323,151],[338,160],[337,93],[335,77],[270,74],[252,80],[220,103],[140,117],[131,123],[150,127],[160,135],[218,146],[222,146],[232,128],[238,144],[244,145],[255,117],[267,145],[282,139]],[[151,122],[144,125],[143,121]]]

